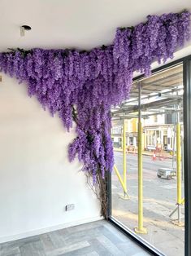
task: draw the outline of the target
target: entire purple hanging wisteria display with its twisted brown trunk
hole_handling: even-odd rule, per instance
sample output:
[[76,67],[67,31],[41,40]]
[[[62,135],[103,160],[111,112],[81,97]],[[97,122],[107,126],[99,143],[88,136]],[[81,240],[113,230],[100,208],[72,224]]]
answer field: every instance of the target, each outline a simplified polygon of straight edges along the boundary
[[189,11],[149,15],[145,23],[116,30],[111,46],[92,51],[21,49],[0,54],[1,71],[28,85],[50,113],[59,113],[76,139],[69,159],[76,156],[86,174],[98,183],[102,214],[106,216],[106,172],[114,165],[111,105],[128,99],[132,73],[150,75],[152,61],[165,62],[189,39]]

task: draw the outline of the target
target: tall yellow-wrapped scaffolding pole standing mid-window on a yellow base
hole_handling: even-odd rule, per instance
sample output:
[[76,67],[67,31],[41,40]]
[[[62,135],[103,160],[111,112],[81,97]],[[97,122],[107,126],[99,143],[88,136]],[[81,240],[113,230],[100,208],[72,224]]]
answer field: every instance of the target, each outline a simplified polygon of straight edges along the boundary
[[138,227],[135,232],[146,234],[143,227],[143,177],[142,177],[142,124],[141,124],[141,85],[139,86],[139,121],[138,121]]

